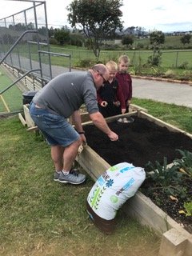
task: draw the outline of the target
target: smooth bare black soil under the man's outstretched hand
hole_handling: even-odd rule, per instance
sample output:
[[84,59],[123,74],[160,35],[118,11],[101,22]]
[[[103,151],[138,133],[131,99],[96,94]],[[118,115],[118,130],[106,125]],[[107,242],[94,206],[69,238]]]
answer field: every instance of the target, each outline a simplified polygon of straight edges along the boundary
[[118,142],[111,142],[93,125],[83,129],[88,145],[111,166],[131,162],[134,166],[145,167],[149,161],[162,162],[163,157],[170,163],[179,157],[176,149],[192,149],[192,140],[185,134],[170,132],[144,118],[134,117],[134,122],[128,124],[111,122],[109,126],[119,135]]

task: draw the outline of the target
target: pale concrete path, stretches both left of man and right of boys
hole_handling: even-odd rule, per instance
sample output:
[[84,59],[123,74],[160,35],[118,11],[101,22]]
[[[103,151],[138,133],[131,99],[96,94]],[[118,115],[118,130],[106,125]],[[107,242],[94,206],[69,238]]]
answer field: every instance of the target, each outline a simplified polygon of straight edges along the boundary
[[[26,70],[30,70],[30,62],[27,58],[22,58]],[[39,68],[38,62],[31,62],[32,68]],[[17,65],[16,65],[17,66]],[[62,66],[51,66],[53,78],[63,72],[68,72],[69,68]],[[74,69],[71,70],[75,71]],[[80,70],[78,70],[80,71]],[[50,77],[50,68],[42,64],[42,73],[45,77]],[[178,106],[188,106],[192,108],[192,85],[165,81],[155,81],[143,78],[133,79],[133,97],[146,98],[158,102],[174,103]]]

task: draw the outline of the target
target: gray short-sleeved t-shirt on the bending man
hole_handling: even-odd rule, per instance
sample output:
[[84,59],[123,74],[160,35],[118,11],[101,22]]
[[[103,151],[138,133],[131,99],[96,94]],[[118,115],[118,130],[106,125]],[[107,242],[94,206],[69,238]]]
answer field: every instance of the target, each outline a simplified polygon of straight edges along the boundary
[[33,102],[66,118],[83,103],[89,114],[98,112],[97,91],[89,71],[58,75],[35,94]]

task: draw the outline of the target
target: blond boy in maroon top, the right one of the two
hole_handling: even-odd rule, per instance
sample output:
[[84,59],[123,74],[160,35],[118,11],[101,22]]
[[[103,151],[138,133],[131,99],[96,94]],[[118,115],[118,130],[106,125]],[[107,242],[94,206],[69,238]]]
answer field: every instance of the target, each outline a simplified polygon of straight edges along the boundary
[[132,79],[127,72],[130,64],[130,59],[127,55],[122,55],[118,58],[118,72],[116,78],[119,86],[122,87],[122,93],[125,98],[126,112],[129,112],[129,105],[132,98]]

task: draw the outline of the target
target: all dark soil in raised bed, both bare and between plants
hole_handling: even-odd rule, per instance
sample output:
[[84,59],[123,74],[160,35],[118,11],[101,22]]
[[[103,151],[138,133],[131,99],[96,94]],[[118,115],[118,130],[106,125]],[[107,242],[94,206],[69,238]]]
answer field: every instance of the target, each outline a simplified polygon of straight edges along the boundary
[[[128,124],[110,122],[109,126],[118,134],[118,142],[111,142],[106,134],[94,125],[85,126],[83,129],[86,131],[88,145],[111,166],[119,162],[130,162],[146,170],[146,164],[149,161],[152,163],[158,161],[162,164],[163,158],[166,157],[169,164],[175,158],[181,158],[176,149],[189,151],[192,149],[192,139],[185,134],[170,132],[166,127],[158,126],[145,118],[134,117],[134,122]],[[191,200],[191,179],[184,183],[187,188],[187,198]],[[147,186],[154,186],[154,184],[146,179],[142,187],[146,189]],[[183,210],[186,199],[173,201],[170,196],[162,193],[162,190],[154,190],[150,198],[171,218],[192,233],[192,218],[186,217],[185,214],[178,214],[178,210]]]

